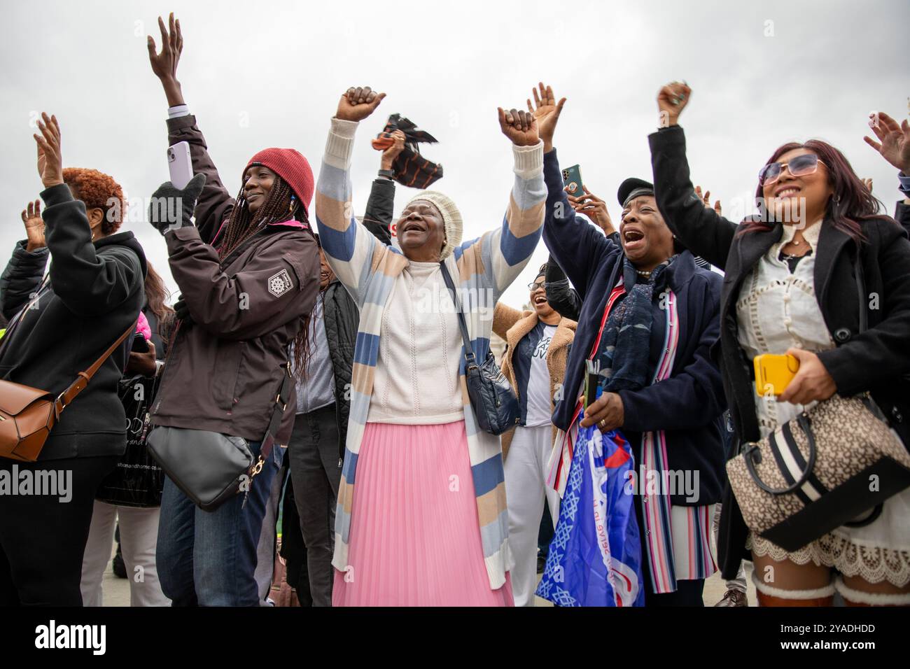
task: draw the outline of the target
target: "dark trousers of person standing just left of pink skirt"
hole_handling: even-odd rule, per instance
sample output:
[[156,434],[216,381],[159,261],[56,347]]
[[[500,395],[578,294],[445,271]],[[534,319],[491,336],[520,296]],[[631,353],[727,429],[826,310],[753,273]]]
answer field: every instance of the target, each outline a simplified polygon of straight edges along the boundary
[[331,606],[335,505],[341,482],[339,426],[335,404],[298,414],[288,442],[294,500],[307,546],[309,594],[313,606]]

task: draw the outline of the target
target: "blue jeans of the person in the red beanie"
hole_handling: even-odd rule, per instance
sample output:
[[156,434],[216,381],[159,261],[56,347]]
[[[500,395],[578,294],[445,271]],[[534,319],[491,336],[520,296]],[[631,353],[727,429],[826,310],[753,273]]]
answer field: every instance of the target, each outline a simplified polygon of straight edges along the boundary
[[[258,454],[261,442],[250,442]],[[174,606],[258,606],[256,549],[282,449],[275,444],[249,492],[202,511],[165,480],[158,522],[157,569]],[[246,498],[246,503],[244,503]]]

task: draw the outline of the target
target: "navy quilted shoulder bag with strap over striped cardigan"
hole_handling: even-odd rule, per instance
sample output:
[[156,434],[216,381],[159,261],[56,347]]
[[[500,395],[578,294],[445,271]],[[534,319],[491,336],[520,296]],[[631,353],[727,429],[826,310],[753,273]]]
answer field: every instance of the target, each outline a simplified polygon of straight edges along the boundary
[[500,436],[503,432],[510,431],[521,421],[521,407],[518,397],[512,390],[511,383],[496,364],[493,352],[487,350],[487,357],[478,365],[474,357],[474,350],[470,348],[468,326],[464,321],[464,313],[458,299],[458,292],[449,274],[445,261],[440,262],[442,278],[446,281],[455,311],[458,313],[461,340],[464,342],[464,379],[468,385],[470,406],[474,410],[474,417],[480,430],[490,432],[493,436]]

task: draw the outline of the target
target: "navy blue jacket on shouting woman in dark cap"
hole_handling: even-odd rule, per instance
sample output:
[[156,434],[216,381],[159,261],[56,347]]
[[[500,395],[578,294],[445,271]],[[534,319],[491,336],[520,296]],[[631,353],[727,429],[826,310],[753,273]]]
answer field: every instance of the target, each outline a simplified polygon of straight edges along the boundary
[[[565,191],[556,149],[543,157],[547,184],[547,213],[543,240],[565,270],[581,297],[578,329],[566,366],[564,400],[553,411],[553,423],[566,430],[581,389],[584,360],[600,329],[610,290],[622,276],[622,247],[581,217],[576,217]],[[632,273],[633,274],[633,273]],[[698,471],[699,496],[672,495],[675,505],[720,502],[723,490],[723,441],[718,416],[723,412],[721,373],[711,347],[720,336],[720,275],[696,267],[693,255],[683,251],[666,270],[667,285],[677,299],[680,338],[669,379],[642,388],[622,390],[625,421],[622,432],[640,456],[644,431],[663,430],[670,469]],[[627,288],[632,277],[625,277]],[[666,331],[666,314],[655,291],[648,371],[653,375]],[[636,467],[638,465],[636,464]]]

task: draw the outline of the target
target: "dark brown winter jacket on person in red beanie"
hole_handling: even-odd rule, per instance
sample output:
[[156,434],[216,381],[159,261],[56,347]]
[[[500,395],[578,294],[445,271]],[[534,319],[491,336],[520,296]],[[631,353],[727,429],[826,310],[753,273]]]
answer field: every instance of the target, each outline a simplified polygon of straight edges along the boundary
[[[193,171],[206,175],[197,226],[217,230],[215,218],[229,215],[233,199],[221,186],[195,118],[174,118],[168,127],[170,143],[189,142]],[[288,362],[288,345],[319,295],[316,239],[306,223],[272,224],[224,261],[197,228],[169,231],[165,239],[171,274],[194,322],[178,326],[152,421],[260,441]],[[292,396],[279,443],[288,442],[296,407]]]

